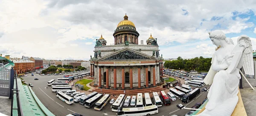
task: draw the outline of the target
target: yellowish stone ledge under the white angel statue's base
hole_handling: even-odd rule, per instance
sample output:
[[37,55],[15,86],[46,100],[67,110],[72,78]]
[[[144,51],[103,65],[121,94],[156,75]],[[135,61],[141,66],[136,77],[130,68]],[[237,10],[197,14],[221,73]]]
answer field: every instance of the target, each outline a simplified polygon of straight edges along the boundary
[[[244,109],[244,103],[243,103],[243,100],[241,98],[240,90],[239,90],[239,93],[237,94],[237,96],[238,96],[238,102],[237,102],[235,110],[233,111],[231,116],[247,116],[247,113]],[[196,114],[199,114],[199,113],[203,112],[204,110],[205,110],[205,105],[202,108],[202,110],[200,110]]]

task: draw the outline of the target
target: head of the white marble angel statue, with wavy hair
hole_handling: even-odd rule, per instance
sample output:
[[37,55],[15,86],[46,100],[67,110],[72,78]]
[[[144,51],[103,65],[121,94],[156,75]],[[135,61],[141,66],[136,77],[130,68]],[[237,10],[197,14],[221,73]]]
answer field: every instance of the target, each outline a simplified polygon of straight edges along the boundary
[[225,40],[226,35],[221,30],[214,30],[209,32],[209,38],[211,39],[212,44],[221,46],[221,40]]

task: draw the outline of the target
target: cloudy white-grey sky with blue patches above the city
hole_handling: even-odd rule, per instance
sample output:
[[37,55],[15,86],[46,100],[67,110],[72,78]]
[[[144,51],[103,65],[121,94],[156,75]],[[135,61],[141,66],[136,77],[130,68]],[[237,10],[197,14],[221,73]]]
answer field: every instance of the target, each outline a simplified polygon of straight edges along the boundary
[[256,50],[255,12],[256,0],[0,0],[0,53],[89,60],[101,34],[114,43],[125,13],[163,58],[211,57],[215,29],[234,41],[248,35]]

